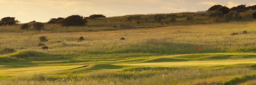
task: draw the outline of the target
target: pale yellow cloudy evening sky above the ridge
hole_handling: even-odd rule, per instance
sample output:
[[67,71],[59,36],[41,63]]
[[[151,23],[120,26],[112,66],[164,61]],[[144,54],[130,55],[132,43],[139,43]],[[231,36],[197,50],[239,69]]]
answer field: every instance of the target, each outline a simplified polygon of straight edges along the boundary
[[241,4],[256,5],[255,0],[0,0],[0,18],[16,17],[21,23],[47,22],[50,18],[92,14],[107,17],[197,12],[213,5],[234,7]]

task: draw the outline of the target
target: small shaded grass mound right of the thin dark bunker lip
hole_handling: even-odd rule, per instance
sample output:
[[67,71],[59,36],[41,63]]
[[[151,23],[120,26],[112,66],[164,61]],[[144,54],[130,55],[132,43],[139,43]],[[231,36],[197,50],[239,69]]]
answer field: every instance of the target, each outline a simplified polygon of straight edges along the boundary
[[112,65],[112,64],[93,64],[90,65],[88,70],[100,70],[100,69],[121,69],[122,66]]

